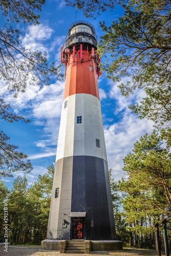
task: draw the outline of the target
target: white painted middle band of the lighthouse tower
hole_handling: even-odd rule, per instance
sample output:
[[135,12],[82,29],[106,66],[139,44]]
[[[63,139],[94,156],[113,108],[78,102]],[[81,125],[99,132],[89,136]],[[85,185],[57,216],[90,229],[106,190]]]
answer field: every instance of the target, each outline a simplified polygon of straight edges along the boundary
[[[77,123],[77,116],[82,116],[82,123]],[[100,140],[100,147],[96,147],[96,139]],[[84,155],[107,161],[100,100],[81,93],[68,96],[63,102],[56,161]]]

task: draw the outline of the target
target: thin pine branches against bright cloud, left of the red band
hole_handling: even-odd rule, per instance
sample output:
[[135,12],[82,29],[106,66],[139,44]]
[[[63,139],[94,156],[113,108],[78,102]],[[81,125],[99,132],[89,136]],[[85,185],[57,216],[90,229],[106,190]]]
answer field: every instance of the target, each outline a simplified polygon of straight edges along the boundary
[[43,86],[48,84],[50,77],[62,77],[60,65],[49,65],[47,54],[25,49],[19,39],[20,32],[10,25],[5,25],[0,32],[0,79],[8,84],[8,89],[16,97],[25,92],[28,84]]

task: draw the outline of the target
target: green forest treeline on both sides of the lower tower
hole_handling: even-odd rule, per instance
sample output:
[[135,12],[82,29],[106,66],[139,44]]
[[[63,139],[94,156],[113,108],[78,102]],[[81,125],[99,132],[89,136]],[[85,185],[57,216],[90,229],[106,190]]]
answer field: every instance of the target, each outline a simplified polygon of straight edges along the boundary
[[[125,178],[116,182],[109,170],[117,238],[124,245],[155,248],[155,224],[162,231],[167,219],[169,246],[171,239],[171,154],[162,146],[154,131],[134,144],[124,159]],[[9,242],[40,244],[46,238],[48,214],[54,176],[54,164],[28,188],[26,176],[17,177],[10,191],[1,188],[0,237],[4,230],[4,200],[8,197]],[[160,232],[161,233],[161,232]],[[161,242],[163,238],[161,234]]]

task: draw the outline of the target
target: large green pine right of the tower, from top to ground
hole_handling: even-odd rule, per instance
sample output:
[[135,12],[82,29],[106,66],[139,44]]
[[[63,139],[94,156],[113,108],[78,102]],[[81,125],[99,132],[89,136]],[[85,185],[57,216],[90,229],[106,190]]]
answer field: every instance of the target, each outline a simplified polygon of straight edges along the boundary
[[[118,181],[122,216],[130,232],[130,245],[154,248],[154,225],[170,218],[171,154],[156,131],[134,143],[124,158],[126,179]],[[169,234],[170,236],[170,234]]]

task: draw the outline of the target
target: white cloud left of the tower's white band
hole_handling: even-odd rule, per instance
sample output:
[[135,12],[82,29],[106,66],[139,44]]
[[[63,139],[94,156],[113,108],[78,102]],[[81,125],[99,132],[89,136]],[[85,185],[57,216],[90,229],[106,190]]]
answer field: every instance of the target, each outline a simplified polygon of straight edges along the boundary
[[63,90],[64,82],[56,81],[43,88],[28,86],[26,92],[20,93],[17,98],[8,91],[4,93],[6,103],[10,103],[16,114],[27,115],[35,125],[42,126],[40,134],[43,139],[35,142],[42,153],[50,154],[51,146],[55,146],[56,150]]

